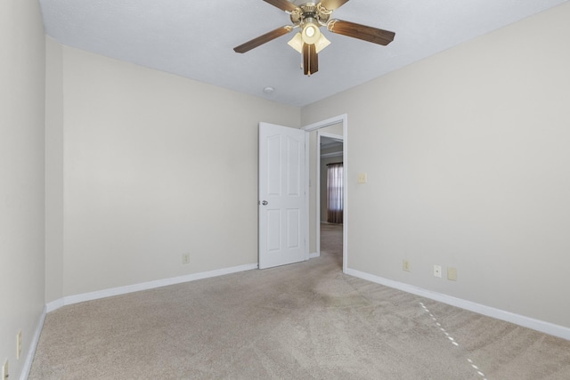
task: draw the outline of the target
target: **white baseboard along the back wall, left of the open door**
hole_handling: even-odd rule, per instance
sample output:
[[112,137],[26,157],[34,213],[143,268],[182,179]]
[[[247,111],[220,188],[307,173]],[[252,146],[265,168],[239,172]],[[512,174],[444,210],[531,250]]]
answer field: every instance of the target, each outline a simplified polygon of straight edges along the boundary
[[183,282],[195,281],[197,279],[208,279],[211,277],[223,276],[224,274],[236,273],[239,271],[250,271],[257,269],[257,263],[240,265],[231,268],[218,269],[216,271],[203,271],[170,279],[157,279],[155,281],[142,282],[140,284],[127,285],[125,287],[111,287],[109,289],[98,290],[96,292],[84,293],[82,295],[68,295],[45,305],[47,312],[57,310],[62,306],[93,301],[113,295],[126,295],[127,293],[139,292],[141,290],[153,289],[155,287],[167,287],[168,285],[181,284]]

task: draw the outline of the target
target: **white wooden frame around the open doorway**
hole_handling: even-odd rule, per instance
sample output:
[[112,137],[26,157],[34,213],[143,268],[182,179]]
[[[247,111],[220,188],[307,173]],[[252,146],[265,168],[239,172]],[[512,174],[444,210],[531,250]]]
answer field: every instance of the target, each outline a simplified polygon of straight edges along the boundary
[[[307,132],[307,139],[308,139],[308,132],[313,132],[313,131],[317,131],[321,128],[324,128],[326,126],[330,126],[330,125],[336,125],[336,124],[342,124],[342,138],[343,138],[343,150],[342,150],[342,158],[343,158],[343,196],[342,196],[342,201],[343,201],[343,239],[342,239],[342,271],[344,273],[346,273],[346,269],[348,268],[348,149],[347,149],[347,142],[348,142],[348,116],[346,114],[342,114],[342,115],[338,115],[336,117],[330,117],[326,120],[322,120],[322,121],[318,121],[316,123],[310,124],[310,125],[305,125],[303,126],[301,129],[305,130]],[[321,140],[319,133],[317,132],[317,154],[319,156],[317,156],[316,158],[316,166],[317,166],[317,171],[316,173],[320,173],[321,172],[321,157],[320,157],[320,146],[319,146],[319,141]],[[310,144],[306,144],[305,145],[305,161],[306,161],[306,167],[307,169],[309,168],[309,154],[310,154]],[[309,176],[310,176],[310,171],[306,170],[306,181],[305,183],[308,184],[309,183]],[[321,181],[320,178],[316,178],[315,181]],[[317,185],[317,190],[319,189],[320,185]],[[320,194],[317,192],[316,194],[316,198],[317,201],[320,201]],[[309,218],[309,213],[310,213],[310,199],[309,199],[309,191],[306,192],[305,194],[305,201],[306,201],[306,205],[307,205],[307,221],[310,220]],[[317,203],[316,207],[316,247],[317,247],[317,254],[321,255],[321,205],[319,203]],[[308,226],[307,226],[307,230],[309,230]],[[309,230],[310,232],[310,230]],[[307,245],[308,245],[308,239],[307,239]],[[307,251],[308,252],[308,251]]]

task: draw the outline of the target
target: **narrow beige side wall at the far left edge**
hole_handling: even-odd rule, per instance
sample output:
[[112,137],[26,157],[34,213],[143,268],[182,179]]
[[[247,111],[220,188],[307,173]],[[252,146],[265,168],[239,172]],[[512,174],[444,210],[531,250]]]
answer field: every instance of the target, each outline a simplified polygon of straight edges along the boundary
[[0,2],[0,46],[0,365],[9,360],[10,378],[18,378],[45,305],[45,39],[37,1]]

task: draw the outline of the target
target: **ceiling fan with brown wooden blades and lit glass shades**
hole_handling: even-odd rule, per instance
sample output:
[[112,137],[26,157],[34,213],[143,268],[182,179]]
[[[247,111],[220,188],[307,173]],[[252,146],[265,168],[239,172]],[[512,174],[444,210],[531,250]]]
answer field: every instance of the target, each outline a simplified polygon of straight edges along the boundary
[[394,40],[395,33],[379,28],[367,27],[344,20],[330,20],[330,15],[348,0],[321,0],[320,3],[296,5],[288,0],[264,0],[289,13],[293,25],[276,28],[265,35],[258,36],[245,44],[233,48],[236,53],[246,53],[259,45],[291,32],[301,30],[289,41],[289,45],[303,54],[303,69],[310,76],[319,70],[318,53],[330,44],[319,28],[326,27],[330,32],[350,36],[374,44],[387,45]]

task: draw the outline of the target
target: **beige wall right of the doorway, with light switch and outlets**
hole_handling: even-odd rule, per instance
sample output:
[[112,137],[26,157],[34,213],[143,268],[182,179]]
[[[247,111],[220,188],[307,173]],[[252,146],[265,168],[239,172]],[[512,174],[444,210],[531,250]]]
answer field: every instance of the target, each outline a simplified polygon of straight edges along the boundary
[[302,110],[348,115],[351,269],[570,327],[568,20],[560,5]]

